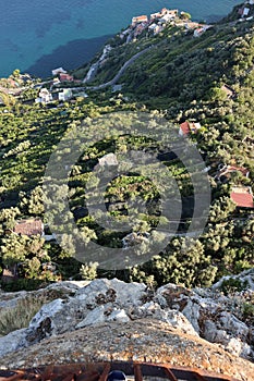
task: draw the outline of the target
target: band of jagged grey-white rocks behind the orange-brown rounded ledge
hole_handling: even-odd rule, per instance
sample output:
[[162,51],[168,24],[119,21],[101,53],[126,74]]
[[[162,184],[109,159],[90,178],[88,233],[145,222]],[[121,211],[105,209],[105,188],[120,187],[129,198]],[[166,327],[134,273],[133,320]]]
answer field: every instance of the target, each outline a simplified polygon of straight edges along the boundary
[[[249,290],[247,293],[251,298],[253,291]],[[94,329],[105,323],[153,319],[193,337],[201,336],[217,343],[237,356],[254,359],[254,327],[252,320],[244,320],[241,314],[245,294],[232,297],[219,290],[188,290],[174,284],[153,291],[145,284],[99,279],[92,282],[60,282],[33,293],[4,295],[0,294],[0,303],[13,309],[19,300],[29,295],[47,295],[52,300],[39,309],[28,327],[22,330],[22,335],[16,332],[16,340],[12,339],[14,344],[2,345],[1,356],[88,325]],[[15,337],[15,332],[9,337],[1,337],[2,343],[10,337]]]

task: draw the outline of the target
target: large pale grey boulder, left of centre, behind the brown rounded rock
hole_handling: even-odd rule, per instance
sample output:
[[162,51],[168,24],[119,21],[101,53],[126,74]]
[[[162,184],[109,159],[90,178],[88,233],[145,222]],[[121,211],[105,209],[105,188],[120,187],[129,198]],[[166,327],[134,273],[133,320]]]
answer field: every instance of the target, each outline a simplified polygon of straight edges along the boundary
[[27,328],[26,345],[92,323],[129,321],[129,310],[143,304],[146,286],[99,279],[82,287],[74,284],[71,290],[74,294],[44,305],[36,314]]

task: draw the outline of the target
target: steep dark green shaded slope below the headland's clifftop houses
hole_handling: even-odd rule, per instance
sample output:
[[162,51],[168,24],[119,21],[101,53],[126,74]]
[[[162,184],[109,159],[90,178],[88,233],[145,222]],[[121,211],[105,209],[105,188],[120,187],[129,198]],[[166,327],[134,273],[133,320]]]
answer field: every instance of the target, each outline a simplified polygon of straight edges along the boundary
[[[254,5],[250,7],[252,13]],[[240,84],[253,66],[253,21],[239,21],[239,9],[197,38],[193,37],[195,28],[186,28],[185,23],[170,24],[156,36],[143,32],[132,42],[120,41],[119,46],[116,38],[112,45],[117,46],[100,65],[95,83],[112,79],[131,57],[153,46],[155,49],[130,65],[119,79],[124,93],[167,108],[174,102],[182,107],[193,100],[209,100],[214,87],[223,82]]]

